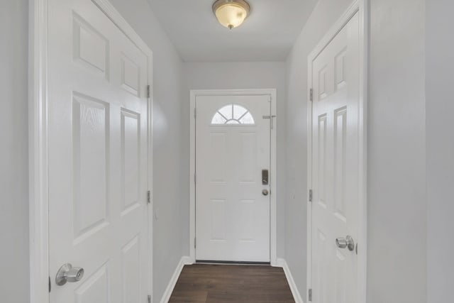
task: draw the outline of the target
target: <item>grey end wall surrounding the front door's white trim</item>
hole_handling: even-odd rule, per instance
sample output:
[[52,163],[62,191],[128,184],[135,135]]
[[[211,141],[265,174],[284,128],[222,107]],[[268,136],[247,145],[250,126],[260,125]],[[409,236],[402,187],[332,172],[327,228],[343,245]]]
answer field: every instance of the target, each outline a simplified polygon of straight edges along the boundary
[[[284,257],[286,95],[284,62],[184,63],[184,150],[189,151],[189,91],[191,89],[277,89],[277,256]],[[189,153],[188,153],[189,154]],[[189,157],[185,162],[189,165]],[[189,175],[189,168],[183,173]],[[189,179],[186,180],[189,187]],[[189,197],[189,193],[188,193]],[[184,208],[189,219],[189,202]],[[184,222],[189,228],[189,221]],[[189,231],[185,254],[189,254]]]

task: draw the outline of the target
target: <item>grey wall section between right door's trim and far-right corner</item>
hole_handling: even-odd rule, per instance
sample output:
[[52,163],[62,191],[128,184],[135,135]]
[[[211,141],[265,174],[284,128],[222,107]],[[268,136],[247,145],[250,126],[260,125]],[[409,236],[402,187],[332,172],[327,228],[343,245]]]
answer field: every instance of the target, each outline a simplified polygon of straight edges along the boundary
[[424,0],[372,0],[368,302],[426,302]]

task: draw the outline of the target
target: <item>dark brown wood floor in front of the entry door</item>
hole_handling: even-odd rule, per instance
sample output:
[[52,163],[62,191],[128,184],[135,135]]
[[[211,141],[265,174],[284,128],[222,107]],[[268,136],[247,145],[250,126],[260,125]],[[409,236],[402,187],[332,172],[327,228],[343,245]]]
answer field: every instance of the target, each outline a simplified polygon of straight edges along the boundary
[[282,268],[263,265],[186,265],[169,302],[292,302]]

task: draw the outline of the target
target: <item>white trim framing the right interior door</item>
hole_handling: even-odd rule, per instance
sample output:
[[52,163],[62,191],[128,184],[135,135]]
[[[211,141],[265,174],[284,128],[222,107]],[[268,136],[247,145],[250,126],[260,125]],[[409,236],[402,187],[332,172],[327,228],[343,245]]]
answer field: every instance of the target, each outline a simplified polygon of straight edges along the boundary
[[[307,196],[312,188],[312,103],[310,101],[310,88],[312,85],[312,62],[322,52],[333,38],[341,31],[345,24],[359,13],[360,26],[360,94],[358,117],[358,161],[359,161],[359,218],[358,218],[358,303],[366,302],[366,277],[367,277],[367,67],[368,67],[368,24],[369,0],[355,0],[343,13],[341,18],[334,23],[328,33],[323,36],[320,43],[308,56],[308,136],[307,136]],[[312,288],[312,204],[307,201],[307,289]],[[305,295],[309,302],[309,294]]]

